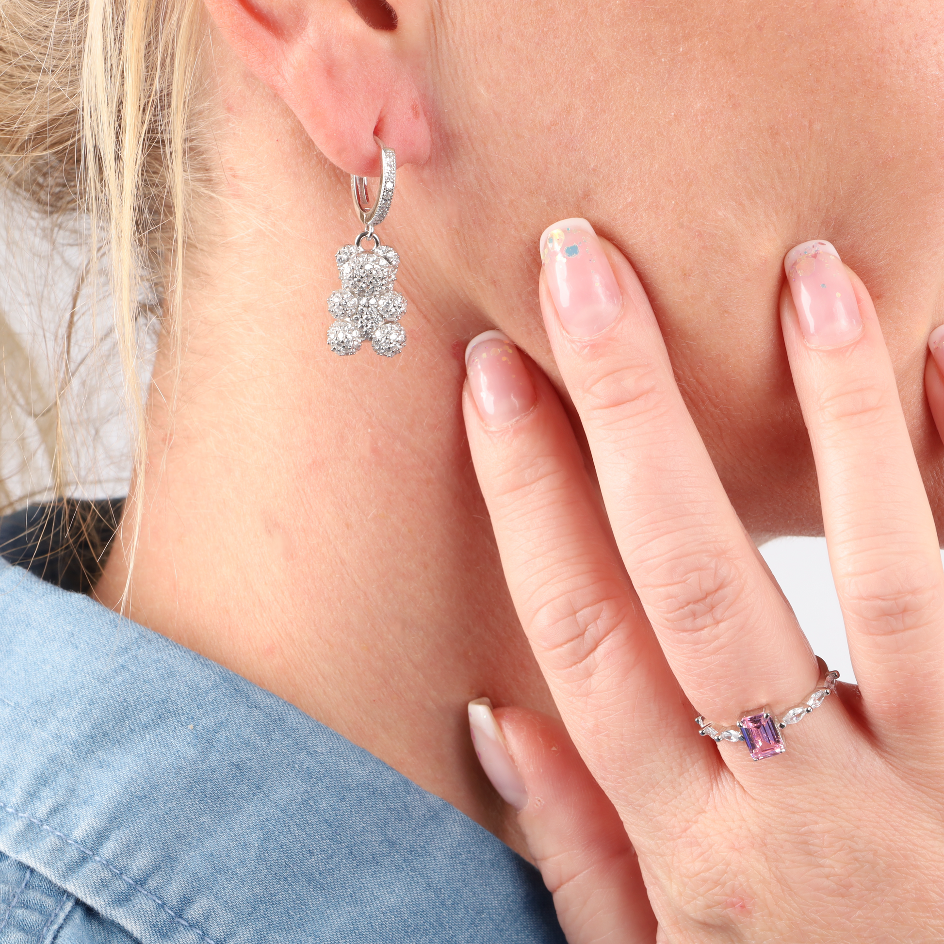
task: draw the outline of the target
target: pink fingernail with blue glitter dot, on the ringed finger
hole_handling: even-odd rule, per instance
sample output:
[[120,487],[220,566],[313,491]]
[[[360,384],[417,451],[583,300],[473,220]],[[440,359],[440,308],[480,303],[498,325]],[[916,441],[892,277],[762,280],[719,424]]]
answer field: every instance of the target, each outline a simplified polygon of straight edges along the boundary
[[541,261],[567,334],[592,338],[615,322],[623,296],[597,234],[586,220],[561,220],[545,229]]

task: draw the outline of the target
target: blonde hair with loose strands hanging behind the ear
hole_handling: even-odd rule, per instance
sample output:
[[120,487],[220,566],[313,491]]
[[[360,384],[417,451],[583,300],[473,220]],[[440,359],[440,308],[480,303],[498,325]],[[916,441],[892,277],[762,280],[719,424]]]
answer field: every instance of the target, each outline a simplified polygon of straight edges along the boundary
[[[84,262],[62,312],[61,369],[53,391],[58,494],[68,480],[61,393],[83,285],[108,267],[114,331],[134,466],[144,461],[141,315],[148,295],[172,349],[179,342],[189,190],[197,149],[191,101],[206,33],[200,0],[3,0],[0,6],[0,160],[9,188],[54,218],[87,221]],[[94,309],[94,299],[92,302]],[[22,352],[4,339],[4,373],[23,377]],[[27,382],[23,379],[14,383]],[[138,487],[132,484],[132,488]],[[0,495],[7,507],[22,497]],[[135,503],[140,509],[141,503]],[[130,558],[140,515],[130,529]]]

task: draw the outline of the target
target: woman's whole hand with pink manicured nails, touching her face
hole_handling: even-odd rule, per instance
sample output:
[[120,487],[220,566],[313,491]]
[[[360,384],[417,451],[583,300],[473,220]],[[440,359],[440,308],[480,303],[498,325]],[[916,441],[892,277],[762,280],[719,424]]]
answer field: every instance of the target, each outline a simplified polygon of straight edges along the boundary
[[500,337],[470,345],[464,413],[565,725],[473,702],[473,734],[568,941],[944,939],[944,570],[868,292],[829,244],[787,255],[784,340],[859,685],[755,762],[695,716],[782,718],[823,668],[734,514],[632,267],[567,223],[544,238],[541,307],[598,487],[548,379]]

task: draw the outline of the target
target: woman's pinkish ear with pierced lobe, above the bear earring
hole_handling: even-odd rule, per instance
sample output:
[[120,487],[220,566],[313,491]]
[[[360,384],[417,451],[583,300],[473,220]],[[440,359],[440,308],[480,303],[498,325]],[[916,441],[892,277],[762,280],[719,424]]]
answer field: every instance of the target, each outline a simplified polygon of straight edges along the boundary
[[[227,42],[295,112],[318,149],[348,174],[377,177],[376,134],[397,164],[430,155],[425,76],[385,0],[205,0]],[[352,6],[357,3],[357,8]],[[399,12],[421,15],[403,0]]]

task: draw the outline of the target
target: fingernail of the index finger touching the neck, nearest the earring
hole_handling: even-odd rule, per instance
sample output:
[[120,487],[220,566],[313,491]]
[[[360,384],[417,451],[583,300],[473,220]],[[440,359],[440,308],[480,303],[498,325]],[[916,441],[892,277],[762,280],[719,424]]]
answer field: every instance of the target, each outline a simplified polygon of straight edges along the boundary
[[507,426],[534,406],[531,374],[501,331],[485,331],[465,348],[469,388],[486,426]]

